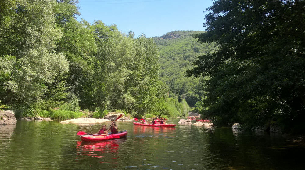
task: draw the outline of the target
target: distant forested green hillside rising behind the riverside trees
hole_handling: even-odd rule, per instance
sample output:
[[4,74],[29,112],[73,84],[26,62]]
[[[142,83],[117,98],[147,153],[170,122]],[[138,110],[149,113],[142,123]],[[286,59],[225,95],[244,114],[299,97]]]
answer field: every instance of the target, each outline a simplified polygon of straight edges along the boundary
[[213,44],[203,44],[192,37],[199,33],[203,31],[172,31],[153,37],[160,50],[160,80],[168,85],[170,97],[185,99],[190,106],[204,95],[203,78],[185,77],[185,71],[194,67],[196,57],[216,49]]

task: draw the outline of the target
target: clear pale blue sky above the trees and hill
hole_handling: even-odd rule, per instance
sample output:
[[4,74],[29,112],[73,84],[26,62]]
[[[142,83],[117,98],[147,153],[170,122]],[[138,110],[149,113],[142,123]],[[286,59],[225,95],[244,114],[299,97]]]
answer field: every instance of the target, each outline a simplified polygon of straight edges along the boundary
[[161,36],[175,30],[205,31],[203,10],[212,0],[79,0],[81,16],[91,24],[116,24],[126,34]]

